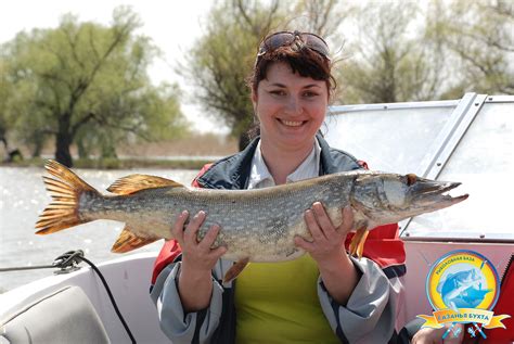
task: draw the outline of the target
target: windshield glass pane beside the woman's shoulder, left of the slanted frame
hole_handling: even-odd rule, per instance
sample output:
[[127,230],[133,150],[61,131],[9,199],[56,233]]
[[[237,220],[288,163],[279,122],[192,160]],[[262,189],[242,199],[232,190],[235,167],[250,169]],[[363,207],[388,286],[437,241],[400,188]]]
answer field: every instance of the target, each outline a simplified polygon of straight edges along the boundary
[[365,161],[371,169],[422,175],[420,163],[440,144],[435,140],[455,106],[412,104],[329,115],[322,131],[332,146]]

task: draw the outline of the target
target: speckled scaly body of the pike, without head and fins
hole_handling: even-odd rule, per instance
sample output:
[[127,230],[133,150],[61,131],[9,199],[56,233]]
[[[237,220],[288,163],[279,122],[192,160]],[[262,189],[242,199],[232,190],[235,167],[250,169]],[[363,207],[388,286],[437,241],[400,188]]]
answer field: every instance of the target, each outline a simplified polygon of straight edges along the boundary
[[348,190],[343,190],[340,182],[329,180],[274,191],[162,188],[128,196],[86,193],[80,199],[79,216],[85,221],[99,218],[125,221],[140,237],[153,232],[158,238],[172,239],[170,226],[183,209],[190,214],[204,211],[207,218],[198,239],[211,226],[219,225],[221,231],[214,246],[227,246],[227,259],[290,260],[304,253],[294,245],[294,237],[310,239],[304,213],[312,203],[322,202],[333,222],[340,224],[340,207],[348,204],[351,183],[343,186]]

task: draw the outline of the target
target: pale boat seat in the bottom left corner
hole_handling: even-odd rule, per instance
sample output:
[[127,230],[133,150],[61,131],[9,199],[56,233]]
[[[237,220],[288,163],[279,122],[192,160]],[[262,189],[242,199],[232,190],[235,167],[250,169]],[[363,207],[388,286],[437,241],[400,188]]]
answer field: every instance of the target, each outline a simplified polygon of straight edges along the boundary
[[0,319],[0,344],[4,343],[110,343],[110,340],[86,293],[70,285]]

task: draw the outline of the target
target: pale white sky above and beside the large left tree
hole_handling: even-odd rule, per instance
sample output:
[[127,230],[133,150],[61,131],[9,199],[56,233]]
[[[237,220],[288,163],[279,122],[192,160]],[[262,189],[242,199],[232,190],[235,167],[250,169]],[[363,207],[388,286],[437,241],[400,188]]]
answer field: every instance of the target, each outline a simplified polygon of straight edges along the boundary
[[[195,38],[202,34],[205,16],[213,0],[16,0],[0,4],[0,43],[9,41],[22,30],[57,27],[63,14],[77,15],[79,21],[110,24],[113,10],[121,4],[132,7],[143,26],[137,34],[145,35],[163,51],[163,58],[155,60],[149,74],[154,84],[178,82],[190,93],[188,80],[174,69],[183,61]],[[202,114],[198,105],[181,102],[182,112],[202,132],[228,132],[228,128]]]

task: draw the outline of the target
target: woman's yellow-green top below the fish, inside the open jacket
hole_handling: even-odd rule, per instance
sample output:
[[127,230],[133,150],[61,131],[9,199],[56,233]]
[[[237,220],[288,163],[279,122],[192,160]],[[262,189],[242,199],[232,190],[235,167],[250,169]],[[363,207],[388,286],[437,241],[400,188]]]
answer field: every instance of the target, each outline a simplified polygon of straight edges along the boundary
[[318,276],[309,254],[246,266],[235,285],[235,342],[339,343],[320,306]]

